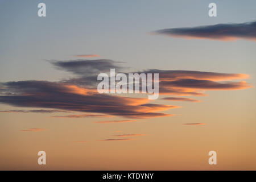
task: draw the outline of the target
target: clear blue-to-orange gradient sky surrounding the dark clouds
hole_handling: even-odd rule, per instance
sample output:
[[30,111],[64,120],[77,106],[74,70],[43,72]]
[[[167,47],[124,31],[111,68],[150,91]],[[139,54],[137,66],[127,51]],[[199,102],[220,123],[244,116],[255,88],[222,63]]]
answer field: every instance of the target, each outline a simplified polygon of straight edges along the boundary
[[[45,18],[37,15],[40,2],[47,6]],[[208,16],[210,2],[217,4],[217,17]],[[201,97],[160,96],[152,104],[180,106],[160,112],[174,116],[121,123],[97,122],[133,118],[56,118],[89,113],[36,113],[28,110],[46,108],[0,104],[0,169],[255,170],[256,42],[151,34],[253,22],[255,7],[255,1],[1,1],[0,82],[61,81],[75,75],[49,60],[110,59],[138,71],[243,73],[250,77],[235,81],[251,88],[207,90],[208,96]],[[40,150],[46,151],[46,166],[37,164]],[[208,164],[211,150],[217,152],[216,166]]]

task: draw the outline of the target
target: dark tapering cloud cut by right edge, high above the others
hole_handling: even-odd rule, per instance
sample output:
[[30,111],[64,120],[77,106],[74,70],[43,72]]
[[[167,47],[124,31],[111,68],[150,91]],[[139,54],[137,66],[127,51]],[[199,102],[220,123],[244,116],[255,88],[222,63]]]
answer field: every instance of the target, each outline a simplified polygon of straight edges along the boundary
[[256,40],[256,22],[222,23],[209,26],[167,28],[155,31],[156,34],[181,37],[185,39],[212,40]]

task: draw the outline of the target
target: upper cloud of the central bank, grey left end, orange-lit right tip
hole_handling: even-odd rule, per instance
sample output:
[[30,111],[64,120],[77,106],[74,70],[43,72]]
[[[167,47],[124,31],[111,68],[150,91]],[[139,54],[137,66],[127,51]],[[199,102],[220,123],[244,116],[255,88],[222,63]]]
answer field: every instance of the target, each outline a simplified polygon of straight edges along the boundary
[[[51,63],[59,69],[64,69],[65,71],[72,72],[79,76],[77,78],[64,80],[65,83],[86,86],[92,89],[96,89],[98,83],[100,82],[97,81],[98,73],[109,73],[110,68],[117,69],[116,73],[120,71],[127,71],[129,69],[119,67],[118,64],[121,62],[104,59],[52,61]],[[128,75],[129,72],[123,73]],[[138,73],[159,73],[159,94],[164,95],[205,96],[206,94],[204,93],[204,90],[236,90],[250,87],[245,81],[233,81],[249,78],[249,75],[242,73],[217,73],[159,69],[146,69],[144,71],[139,71]],[[186,80],[188,81],[187,84],[185,84]],[[189,85],[189,83],[191,84]],[[201,86],[199,86],[200,83]]]

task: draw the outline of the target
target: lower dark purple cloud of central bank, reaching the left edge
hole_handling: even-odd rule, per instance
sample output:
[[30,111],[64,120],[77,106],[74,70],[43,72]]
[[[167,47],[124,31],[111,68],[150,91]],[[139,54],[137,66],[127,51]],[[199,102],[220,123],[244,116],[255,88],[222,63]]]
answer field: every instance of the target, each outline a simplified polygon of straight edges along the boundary
[[150,104],[147,98],[99,94],[95,90],[60,82],[18,81],[1,85],[0,102],[18,107],[40,107],[85,113],[101,113],[125,118],[165,117],[158,113],[175,106]]

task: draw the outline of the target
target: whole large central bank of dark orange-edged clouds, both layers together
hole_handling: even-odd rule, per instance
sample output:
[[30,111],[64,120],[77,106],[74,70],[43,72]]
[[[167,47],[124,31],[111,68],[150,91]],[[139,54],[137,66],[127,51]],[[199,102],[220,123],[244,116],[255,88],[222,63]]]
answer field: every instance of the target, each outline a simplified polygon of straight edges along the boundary
[[[179,107],[148,103],[147,98],[99,94],[97,74],[108,73],[111,68],[115,68],[116,73],[123,70],[127,75],[129,68],[119,67],[118,64],[121,62],[101,59],[51,61],[50,63],[58,69],[73,73],[76,77],[58,82],[28,80],[0,83],[0,103],[17,107],[86,113],[56,115],[53,118],[106,117],[106,115],[126,118],[98,123],[121,123],[133,122],[131,119],[171,117],[173,114],[162,113],[162,111]],[[168,96],[205,96],[205,90],[250,88],[250,85],[242,80],[249,78],[249,75],[242,73],[159,69],[146,69],[137,73],[159,73],[159,94]],[[182,97],[165,99],[196,102],[196,100]],[[40,112],[40,109],[27,112]],[[41,113],[55,111],[41,110]]]

